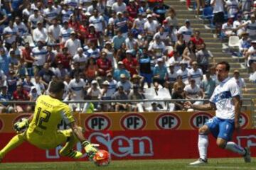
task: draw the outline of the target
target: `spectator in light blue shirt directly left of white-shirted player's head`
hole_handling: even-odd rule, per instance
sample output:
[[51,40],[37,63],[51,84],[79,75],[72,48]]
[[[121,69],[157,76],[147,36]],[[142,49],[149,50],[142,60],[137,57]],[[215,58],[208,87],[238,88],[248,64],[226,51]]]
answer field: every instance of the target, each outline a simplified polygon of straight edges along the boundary
[[201,89],[203,89],[206,99],[209,99],[212,96],[215,89],[216,82],[210,77],[210,70],[206,70],[206,78],[203,79],[201,83]]

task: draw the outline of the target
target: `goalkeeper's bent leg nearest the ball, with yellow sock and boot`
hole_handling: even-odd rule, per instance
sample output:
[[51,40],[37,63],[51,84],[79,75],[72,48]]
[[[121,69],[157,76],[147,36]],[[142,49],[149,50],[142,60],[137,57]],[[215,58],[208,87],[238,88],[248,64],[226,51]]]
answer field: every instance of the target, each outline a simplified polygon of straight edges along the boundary
[[[82,128],[80,129],[82,130]],[[58,131],[60,137],[60,144],[63,144],[63,137],[66,140],[65,146],[60,149],[60,155],[63,157],[71,157],[79,159],[82,157],[82,152],[75,151],[73,147],[79,142],[78,138],[73,134],[72,130],[60,130]]]

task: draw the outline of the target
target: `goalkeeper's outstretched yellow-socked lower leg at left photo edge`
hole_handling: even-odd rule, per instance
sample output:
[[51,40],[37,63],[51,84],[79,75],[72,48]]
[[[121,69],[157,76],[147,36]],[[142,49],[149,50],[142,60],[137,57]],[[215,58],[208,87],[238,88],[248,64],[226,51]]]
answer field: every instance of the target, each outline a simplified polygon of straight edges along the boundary
[[14,136],[9,143],[0,151],[0,159],[3,159],[4,156],[10,152],[12,149],[18,147],[19,145],[21,145],[24,142],[24,137],[23,137],[23,133],[18,134],[16,136]]

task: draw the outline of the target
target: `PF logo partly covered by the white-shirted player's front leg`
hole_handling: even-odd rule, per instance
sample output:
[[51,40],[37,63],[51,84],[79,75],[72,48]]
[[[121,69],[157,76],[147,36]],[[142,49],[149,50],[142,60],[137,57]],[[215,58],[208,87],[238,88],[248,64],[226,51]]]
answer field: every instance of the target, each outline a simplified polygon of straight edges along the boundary
[[212,117],[213,115],[210,115],[209,113],[199,112],[192,115],[190,119],[190,124],[193,128],[198,129],[201,128],[201,126],[203,126],[207,122],[207,120]]

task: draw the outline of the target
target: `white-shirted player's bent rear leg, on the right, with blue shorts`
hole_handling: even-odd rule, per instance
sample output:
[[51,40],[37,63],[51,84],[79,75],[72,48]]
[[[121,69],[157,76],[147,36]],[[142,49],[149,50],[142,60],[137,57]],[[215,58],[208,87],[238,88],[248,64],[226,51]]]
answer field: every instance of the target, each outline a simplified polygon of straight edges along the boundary
[[231,138],[234,131],[233,120],[222,120],[220,125],[220,132],[217,139],[217,145],[220,148],[227,149],[231,152],[235,152],[244,157],[245,162],[251,162],[250,160],[250,149],[242,148],[235,142],[231,142]]

